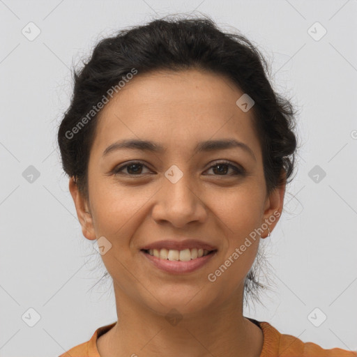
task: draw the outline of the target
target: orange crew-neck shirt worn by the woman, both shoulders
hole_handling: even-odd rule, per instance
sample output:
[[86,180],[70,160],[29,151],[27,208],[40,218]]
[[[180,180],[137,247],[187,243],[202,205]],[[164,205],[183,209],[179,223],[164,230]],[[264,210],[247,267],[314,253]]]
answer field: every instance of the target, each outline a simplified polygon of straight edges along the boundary
[[[250,319],[263,331],[264,342],[260,357],[357,357],[357,351],[345,349],[323,349],[312,342],[303,342],[297,337],[284,335],[265,321]],[[97,338],[112,328],[116,322],[96,330],[91,340],[79,344],[59,357],[100,357]]]

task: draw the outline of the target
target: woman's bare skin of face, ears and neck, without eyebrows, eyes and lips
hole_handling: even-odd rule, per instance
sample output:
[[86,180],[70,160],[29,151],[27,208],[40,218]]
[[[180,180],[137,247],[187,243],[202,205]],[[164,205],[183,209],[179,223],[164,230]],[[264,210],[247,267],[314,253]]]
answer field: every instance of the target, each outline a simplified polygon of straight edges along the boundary
[[[105,236],[112,244],[102,259],[114,282],[119,324],[98,339],[100,356],[260,355],[262,331],[243,317],[243,284],[259,236],[215,282],[207,278],[250,232],[282,211],[285,186],[266,195],[253,113],[236,105],[242,95],[226,77],[202,70],[139,73],[100,112],[89,200],[72,178],[69,183],[84,236]],[[240,148],[193,153],[197,142],[231,138],[247,144],[255,158]],[[125,149],[102,157],[119,139],[149,139],[165,152]],[[144,166],[112,172],[130,160]],[[214,165],[222,160],[241,165],[246,174],[234,176],[229,167],[220,173]],[[183,172],[176,183],[165,177],[172,165]],[[181,275],[160,271],[140,252],[148,243],[180,236],[218,252],[199,270]],[[165,319],[172,309],[183,318],[175,326]]]

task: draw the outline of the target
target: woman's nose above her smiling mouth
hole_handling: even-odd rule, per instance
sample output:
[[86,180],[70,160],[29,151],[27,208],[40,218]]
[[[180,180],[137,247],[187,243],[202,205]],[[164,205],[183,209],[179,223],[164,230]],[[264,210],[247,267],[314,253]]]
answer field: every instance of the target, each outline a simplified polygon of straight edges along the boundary
[[188,175],[183,175],[176,183],[165,178],[162,185],[151,213],[153,220],[158,223],[170,222],[177,228],[206,220],[206,206],[203,197],[200,197],[202,192],[195,189]]

